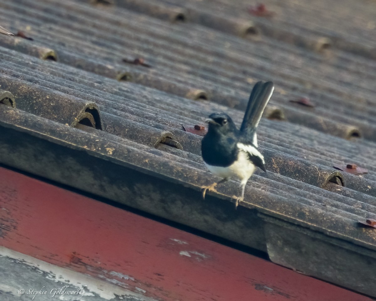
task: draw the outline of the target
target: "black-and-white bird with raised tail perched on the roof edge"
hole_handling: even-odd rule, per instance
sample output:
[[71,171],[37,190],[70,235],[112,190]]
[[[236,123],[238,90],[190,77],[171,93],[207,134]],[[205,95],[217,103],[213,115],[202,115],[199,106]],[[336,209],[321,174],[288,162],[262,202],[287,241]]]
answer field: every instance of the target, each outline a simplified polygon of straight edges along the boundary
[[223,112],[209,115],[206,120],[208,132],[202,139],[201,153],[208,170],[222,180],[203,187],[204,199],[207,190],[217,192],[215,187],[218,184],[237,178],[242,188],[240,197],[233,196],[237,208],[244,199],[247,181],[256,167],[266,172],[264,156],[258,150],[256,130],[273,91],[273,82],[259,81],[255,84],[240,129]]

